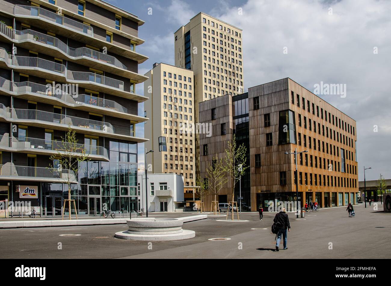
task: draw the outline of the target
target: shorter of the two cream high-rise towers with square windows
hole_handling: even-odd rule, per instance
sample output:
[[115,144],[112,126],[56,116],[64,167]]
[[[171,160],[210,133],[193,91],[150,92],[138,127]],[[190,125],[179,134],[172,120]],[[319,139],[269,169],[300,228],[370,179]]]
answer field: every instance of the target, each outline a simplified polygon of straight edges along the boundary
[[[147,156],[153,173],[176,173],[185,186],[195,186],[194,74],[192,70],[155,63],[145,74],[144,104],[149,120],[145,123]],[[167,150],[159,151],[164,138]]]

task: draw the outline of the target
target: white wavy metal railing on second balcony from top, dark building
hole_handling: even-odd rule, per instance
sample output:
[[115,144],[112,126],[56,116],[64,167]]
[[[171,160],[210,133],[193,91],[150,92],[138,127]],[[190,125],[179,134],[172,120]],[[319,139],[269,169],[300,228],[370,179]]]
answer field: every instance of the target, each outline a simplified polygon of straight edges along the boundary
[[4,23],[0,22],[0,34],[17,43],[30,41],[30,42],[37,42],[45,46],[49,46],[51,48],[56,48],[57,50],[63,52],[63,54],[75,60],[81,58],[88,58],[93,61],[110,64],[117,68],[122,68],[124,70],[127,70],[127,67],[112,55],[104,54],[102,52],[98,52],[96,50],[86,48],[86,47],[71,48],[68,45],[66,45],[66,43],[64,43],[63,41],[61,41],[56,37],[43,34],[40,32],[36,32],[34,30],[30,30],[30,29],[14,30],[8,27],[7,25],[5,25]]

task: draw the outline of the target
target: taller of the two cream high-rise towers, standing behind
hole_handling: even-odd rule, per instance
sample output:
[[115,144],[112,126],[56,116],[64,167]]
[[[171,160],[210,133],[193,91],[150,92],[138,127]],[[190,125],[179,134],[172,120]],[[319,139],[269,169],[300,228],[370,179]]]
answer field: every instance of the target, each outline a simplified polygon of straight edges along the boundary
[[[174,38],[175,65],[194,71],[195,123],[199,123],[200,102],[244,91],[242,29],[199,13]],[[195,136],[198,141],[198,133]],[[196,150],[198,160],[198,142]]]

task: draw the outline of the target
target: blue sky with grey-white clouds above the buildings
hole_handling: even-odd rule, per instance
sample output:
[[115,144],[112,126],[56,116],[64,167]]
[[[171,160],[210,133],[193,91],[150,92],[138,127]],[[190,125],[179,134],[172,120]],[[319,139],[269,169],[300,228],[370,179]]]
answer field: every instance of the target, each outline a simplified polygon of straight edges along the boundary
[[391,1],[107,1],[145,21],[137,52],[149,59],[139,73],[174,64],[174,32],[202,11],[243,30],[245,89],[285,77],[312,92],[321,82],[346,84],[343,96],[319,96],[357,121],[359,181],[364,166],[372,167],[366,180],[391,179]]

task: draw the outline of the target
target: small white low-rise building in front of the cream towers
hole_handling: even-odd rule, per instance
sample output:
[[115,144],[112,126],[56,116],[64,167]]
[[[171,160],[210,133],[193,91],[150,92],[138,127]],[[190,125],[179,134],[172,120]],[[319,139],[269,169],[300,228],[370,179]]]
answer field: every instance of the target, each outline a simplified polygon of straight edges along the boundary
[[[183,176],[174,173],[148,175],[148,211],[175,211],[183,204]],[[145,174],[138,175],[138,191],[145,210]],[[145,211],[144,211],[145,212]]]

